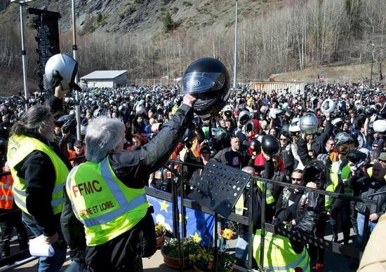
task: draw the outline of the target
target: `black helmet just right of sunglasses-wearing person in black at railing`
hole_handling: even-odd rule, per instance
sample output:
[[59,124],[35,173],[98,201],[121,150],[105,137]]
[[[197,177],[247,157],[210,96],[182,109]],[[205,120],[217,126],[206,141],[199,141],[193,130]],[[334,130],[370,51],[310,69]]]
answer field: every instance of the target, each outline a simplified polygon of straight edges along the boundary
[[315,182],[317,189],[324,189],[330,180],[327,166],[321,161],[310,161],[303,169],[303,180],[305,184]]

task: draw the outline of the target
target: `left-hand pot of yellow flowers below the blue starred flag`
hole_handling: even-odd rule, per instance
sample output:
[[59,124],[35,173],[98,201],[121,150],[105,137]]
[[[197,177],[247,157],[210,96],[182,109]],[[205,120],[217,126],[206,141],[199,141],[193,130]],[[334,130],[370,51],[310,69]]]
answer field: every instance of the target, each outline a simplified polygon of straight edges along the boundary
[[[196,254],[199,244],[194,242],[192,239],[182,238],[180,246],[181,252],[184,254],[184,263],[182,264],[182,268],[187,268],[189,266],[189,254]],[[164,256],[164,263],[167,266],[180,268],[177,238],[170,238],[166,240],[164,245],[161,247],[161,254]]]

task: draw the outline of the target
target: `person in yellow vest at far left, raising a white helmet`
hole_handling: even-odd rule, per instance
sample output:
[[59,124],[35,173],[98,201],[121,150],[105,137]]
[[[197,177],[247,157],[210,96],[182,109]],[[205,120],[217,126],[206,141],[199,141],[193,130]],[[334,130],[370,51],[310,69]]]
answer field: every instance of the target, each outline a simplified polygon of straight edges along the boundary
[[48,103],[36,105],[11,128],[8,165],[13,177],[13,197],[22,210],[22,221],[35,236],[44,236],[52,245],[52,257],[39,258],[39,271],[59,271],[65,262],[67,244],[60,228],[63,208],[62,189],[71,169],[68,159],[54,140],[55,118],[62,97],[78,88],[74,83],[77,62],[64,54],[51,57],[46,64],[45,87],[54,91]]

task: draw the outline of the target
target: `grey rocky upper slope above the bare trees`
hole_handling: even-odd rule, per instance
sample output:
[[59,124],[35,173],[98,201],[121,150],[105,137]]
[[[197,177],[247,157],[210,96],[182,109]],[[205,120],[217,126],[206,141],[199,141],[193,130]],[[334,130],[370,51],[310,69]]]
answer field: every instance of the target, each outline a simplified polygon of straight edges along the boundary
[[[4,0],[1,0],[4,1]],[[5,3],[8,1],[4,1]],[[79,33],[114,32],[152,38],[163,33],[166,12],[171,14],[179,29],[189,32],[213,28],[214,31],[234,23],[234,1],[227,0],[76,0],[76,27]],[[239,0],[239,14],[244,17],[258,15],[260,11],[278,6],[280,1]],[[1,7],[6,6],[1,4]],[[71,1],[35,0],[30,7],[59,11],[60,29],[71,30]],[[0,12],[0,23],[18,22],[18,5],[12,4]],[[197,33],[198,34],[198,33]]]

